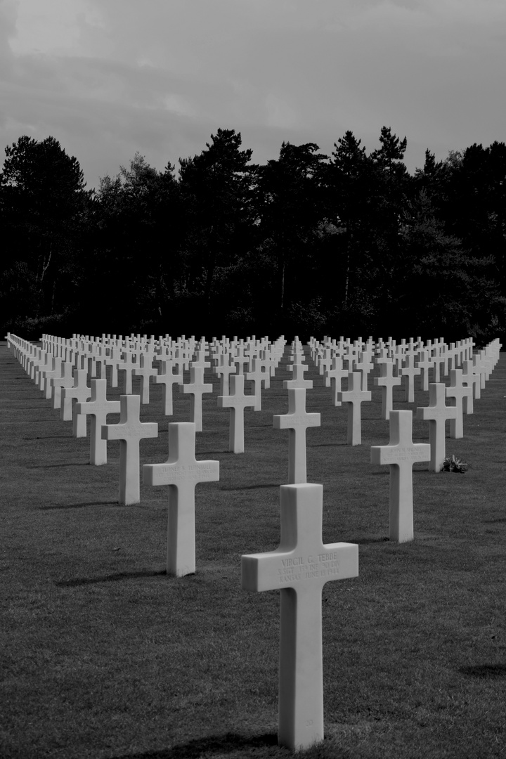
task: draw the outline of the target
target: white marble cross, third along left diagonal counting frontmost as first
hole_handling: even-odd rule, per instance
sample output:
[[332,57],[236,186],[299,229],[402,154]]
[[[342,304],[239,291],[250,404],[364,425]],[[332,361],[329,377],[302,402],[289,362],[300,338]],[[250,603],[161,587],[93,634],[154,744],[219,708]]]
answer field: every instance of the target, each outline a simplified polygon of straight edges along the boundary
[[158,437],[156,422],[141,422],[140,395],[120,395],[118,424],[103,424],[102,438],[120,441],[119,503],[140,502],[139,442],[145,437]]

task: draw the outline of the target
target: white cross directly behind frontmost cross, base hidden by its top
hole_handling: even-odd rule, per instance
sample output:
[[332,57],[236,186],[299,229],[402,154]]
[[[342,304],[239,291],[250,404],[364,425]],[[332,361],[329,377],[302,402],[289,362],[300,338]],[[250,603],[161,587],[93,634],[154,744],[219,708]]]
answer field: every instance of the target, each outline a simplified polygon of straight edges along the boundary
[[288,482],[306,482],[306,429],[319,427],[320,415],[306,411],[306,389],[288,390],[288,414],[275,414],[275,430],[288,430]]

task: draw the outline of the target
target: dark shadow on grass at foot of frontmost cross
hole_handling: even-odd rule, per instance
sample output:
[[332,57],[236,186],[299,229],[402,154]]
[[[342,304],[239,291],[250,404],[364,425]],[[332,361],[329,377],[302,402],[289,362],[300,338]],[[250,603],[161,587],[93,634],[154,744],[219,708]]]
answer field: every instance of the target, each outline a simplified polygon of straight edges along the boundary
[[[198,738],[172,748],[162,748],[159,751],[118,754],[114,759],[200,759],[203,756],[231,754],[235,751],[244,751],[244,756],[247,756],[250,752],[256,753],[262,748],[277,745],[278,739],[274,733],[245,736],[227,732],[225,735],[210,735],[209,738]],[[287,754],[290,753],[288,749],[286,751]]]

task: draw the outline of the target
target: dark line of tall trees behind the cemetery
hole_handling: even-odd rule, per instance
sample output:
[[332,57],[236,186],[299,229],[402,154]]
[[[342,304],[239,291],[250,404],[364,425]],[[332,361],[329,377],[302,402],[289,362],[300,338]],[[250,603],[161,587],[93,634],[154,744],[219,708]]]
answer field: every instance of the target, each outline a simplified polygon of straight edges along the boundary
[[506,326],[506,145],[413,175],[383,127],[330,156],[284,142],[252,162],[240,133],[86,190],[58,140],[19,137],[0,174],[4,334],[473,335]]

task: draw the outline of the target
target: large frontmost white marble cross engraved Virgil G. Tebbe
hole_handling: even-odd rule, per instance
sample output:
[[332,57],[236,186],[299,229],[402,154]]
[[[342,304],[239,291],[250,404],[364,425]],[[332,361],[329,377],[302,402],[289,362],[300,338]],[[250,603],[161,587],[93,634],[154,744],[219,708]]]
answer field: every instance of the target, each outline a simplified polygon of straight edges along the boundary
[[241,585],[281,591],[278,743],[297,751],[323,740],[322,587],[358,576],[358,546],[322,543],[322,485],[279,490],[279,547],[241,556]]

